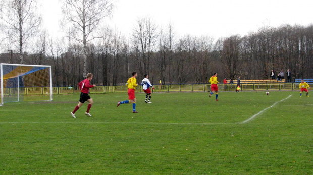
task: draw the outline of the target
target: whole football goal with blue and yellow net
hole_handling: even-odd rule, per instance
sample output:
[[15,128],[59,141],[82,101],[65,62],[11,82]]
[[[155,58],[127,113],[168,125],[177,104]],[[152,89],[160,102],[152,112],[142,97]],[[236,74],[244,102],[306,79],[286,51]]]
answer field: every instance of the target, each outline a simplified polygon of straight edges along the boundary
[[0,64],[1,104],[52,101],[51,66]]

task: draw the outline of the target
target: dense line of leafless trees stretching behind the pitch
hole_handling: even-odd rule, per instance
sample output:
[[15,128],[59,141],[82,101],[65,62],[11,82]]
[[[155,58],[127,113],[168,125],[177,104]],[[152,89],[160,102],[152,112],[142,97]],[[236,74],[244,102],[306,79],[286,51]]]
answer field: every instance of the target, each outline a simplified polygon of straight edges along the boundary
[[[83,47],[71,40],[51,39],[42,33],[24,52],[24,64],[51,65],[56,86],[77,85],[83,79]],[[97,85],[124,84],[132,71],[138,80],[150,74],[152,83],[207,83],[214,72],[227,79],[269,79],[290,69],[292,78],[313,77],[313,25],[262,27],[241,37],[185,35],[173,27],[158,30],[148,18],[138,20],[130,37],[110,28],[87,46],[87,72]],[[19,54],[2,53],[1,63],[19,64]]]

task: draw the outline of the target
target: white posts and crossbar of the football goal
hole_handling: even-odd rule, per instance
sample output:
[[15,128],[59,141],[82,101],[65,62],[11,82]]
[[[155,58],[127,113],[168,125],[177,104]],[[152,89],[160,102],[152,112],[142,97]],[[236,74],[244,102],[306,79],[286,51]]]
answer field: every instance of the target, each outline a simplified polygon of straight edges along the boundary
[[[50,101],[52,101],[52,67],[49,65],[21,65],[21,64],[8,64],[8,63],[0,63],[0,78],[1,78],[1,103],[0,106],[4,104],[3,98],[4,98],[4,83],[3,83],[3,66],[29,66],[29,67],[44,67],[49,68],[49,74],[50,74]],[[18,76],[19,78],[19,76]],[[19,86],[19,85],[18,85]],[[19,89],[19,88],[17,88]],[[19,92],[18,92],[18,99],[19,99]],[[18,100],[19,101],[19,100]]]

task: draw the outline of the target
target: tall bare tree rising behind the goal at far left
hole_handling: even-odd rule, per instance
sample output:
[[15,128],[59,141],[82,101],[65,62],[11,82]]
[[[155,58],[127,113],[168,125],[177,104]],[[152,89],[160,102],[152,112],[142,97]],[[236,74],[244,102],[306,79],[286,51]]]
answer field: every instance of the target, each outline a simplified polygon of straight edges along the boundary
[[20,63],[23,64],[23,48],[33,37],[42,22],[37,14],[36,0],[1,0],[0,19],[10,44],[19,48]]

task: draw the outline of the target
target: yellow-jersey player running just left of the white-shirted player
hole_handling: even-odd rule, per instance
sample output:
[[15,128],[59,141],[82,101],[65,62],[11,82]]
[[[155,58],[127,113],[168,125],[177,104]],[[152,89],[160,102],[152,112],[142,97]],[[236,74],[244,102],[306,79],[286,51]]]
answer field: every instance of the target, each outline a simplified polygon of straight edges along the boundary
[[135,90],[136,90],[136,87],[138,86],[137,80],[136,80],[137,72],[133,72],[132,75],[133,76],[130,77],[126,83],[126,86],[128,88],[128,99],[129,100],[119,101],[117,104],[117,107],[119,107],[119,105],[121,105],[121,104],[133,103],[133,113],[138,113],[136,111],[136,97],[135,97]]

